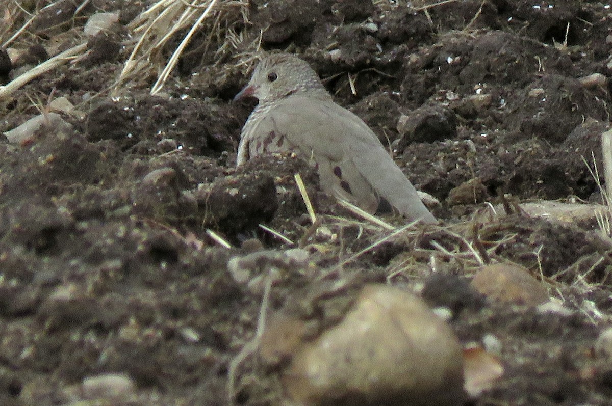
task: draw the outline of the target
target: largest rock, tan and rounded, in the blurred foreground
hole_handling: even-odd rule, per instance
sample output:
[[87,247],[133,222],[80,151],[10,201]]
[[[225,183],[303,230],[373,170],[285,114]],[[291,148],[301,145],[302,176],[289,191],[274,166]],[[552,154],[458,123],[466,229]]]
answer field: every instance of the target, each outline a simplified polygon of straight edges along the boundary
[[288,339],[280,340],[285,351],[275,356],[293,355],[282,384],[294,404],[463,404],[461,346],[408,292],[364,286],[341,322],[312,341],[305,341],[307,324],[286,315],[276,320],[283,328],[271,323],[269,331],[277,337],[285,331]]

